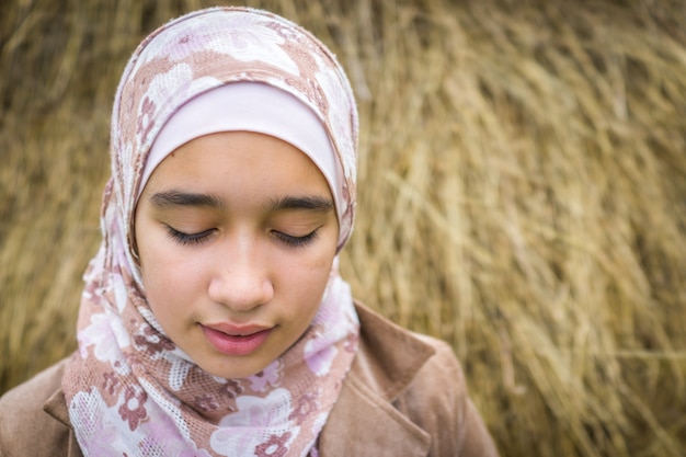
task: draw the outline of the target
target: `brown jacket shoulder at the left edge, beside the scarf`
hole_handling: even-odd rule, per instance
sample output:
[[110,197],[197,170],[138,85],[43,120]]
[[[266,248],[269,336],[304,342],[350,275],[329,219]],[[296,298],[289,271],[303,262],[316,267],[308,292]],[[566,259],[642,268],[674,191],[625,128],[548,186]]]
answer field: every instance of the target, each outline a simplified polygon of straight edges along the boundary
[[[60,454],[57,449],[67,455],[70,427],[61,396],[66,364],[50,366],[0,398],[0,456],[54,456]],[[61,407],[61,420],[44,410],[47,402]]]

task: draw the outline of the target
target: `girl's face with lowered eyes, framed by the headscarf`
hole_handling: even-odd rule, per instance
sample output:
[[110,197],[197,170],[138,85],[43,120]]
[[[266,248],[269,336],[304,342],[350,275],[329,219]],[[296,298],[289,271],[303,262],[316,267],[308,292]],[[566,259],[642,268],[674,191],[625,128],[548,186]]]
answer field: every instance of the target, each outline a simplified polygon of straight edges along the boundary
[[251,376],[312,321],[339,236],[331,191],[277,138],[196,138],[152,172],[136,208],[145,293],[169,338],[206,372]]

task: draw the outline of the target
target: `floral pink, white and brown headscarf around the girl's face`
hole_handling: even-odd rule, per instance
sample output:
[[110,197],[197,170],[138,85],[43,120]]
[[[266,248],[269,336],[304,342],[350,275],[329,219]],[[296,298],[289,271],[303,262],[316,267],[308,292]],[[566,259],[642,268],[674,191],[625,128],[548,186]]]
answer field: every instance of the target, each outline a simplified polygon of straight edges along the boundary
[[146,301],[133,243],[137,198],[171,151],[152,155],[148,165],[163,126],[202,94],[245,82],[278,89],[320,121],[335,155],[333,172],[320,170],[336,204],[339,250],[350,237],[357,112],[322,43],[283,18],[244,8],[201,10],[148,36],[115,98],[103,243],[84,274],[78,351],[62,379],[85,456],[317,455],[357,347],[357,317],[338,259],[305,334],[264,370],[222,379],[164,334]]

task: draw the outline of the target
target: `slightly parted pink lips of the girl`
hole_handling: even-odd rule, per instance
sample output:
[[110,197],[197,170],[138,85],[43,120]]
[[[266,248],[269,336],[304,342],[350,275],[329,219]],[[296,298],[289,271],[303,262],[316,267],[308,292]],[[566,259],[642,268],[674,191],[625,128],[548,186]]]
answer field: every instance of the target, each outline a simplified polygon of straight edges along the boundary
[[226,355],[248,355],[255,352],[272,333],[273,328],[260,325],[232,325],[227,323],[201,324],[209,343]]

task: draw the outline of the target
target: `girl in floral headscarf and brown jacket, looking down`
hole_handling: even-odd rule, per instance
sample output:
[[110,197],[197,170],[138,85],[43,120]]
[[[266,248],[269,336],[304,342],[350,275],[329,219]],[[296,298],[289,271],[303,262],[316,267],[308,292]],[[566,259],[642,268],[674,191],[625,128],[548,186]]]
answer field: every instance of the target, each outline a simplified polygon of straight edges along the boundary
[[112,118],[79,350],[0,400],[2,456],[493,456],[451,350],[354,302],[357,113],[312,35],[197,11]]

